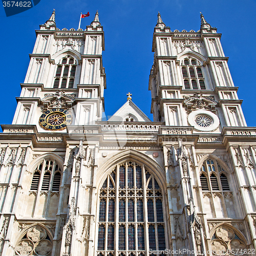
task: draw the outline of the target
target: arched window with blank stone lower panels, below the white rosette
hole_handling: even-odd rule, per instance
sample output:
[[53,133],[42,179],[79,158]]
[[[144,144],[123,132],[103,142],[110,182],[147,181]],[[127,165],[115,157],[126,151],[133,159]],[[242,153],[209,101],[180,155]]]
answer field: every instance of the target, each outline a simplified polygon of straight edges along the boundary
[[200,172],[204,207],[208,218],[235,218],[236,210],[228,174],[220,162],[206,159]]

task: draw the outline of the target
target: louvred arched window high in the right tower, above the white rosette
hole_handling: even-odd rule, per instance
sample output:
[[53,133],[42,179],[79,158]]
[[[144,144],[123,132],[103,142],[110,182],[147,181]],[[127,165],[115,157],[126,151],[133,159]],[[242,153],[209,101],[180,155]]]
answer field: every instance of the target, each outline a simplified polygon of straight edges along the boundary
[[206,90],[201,63],[195,58],[182,60],[181,72],[186,90]]

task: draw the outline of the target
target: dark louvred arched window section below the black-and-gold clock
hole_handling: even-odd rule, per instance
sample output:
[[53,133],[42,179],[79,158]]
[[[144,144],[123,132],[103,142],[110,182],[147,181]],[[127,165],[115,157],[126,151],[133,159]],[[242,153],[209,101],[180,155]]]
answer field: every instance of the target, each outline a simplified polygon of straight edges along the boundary
[[30,190],[59,191],[61,170],[53,159],[43,160],[33,174]]

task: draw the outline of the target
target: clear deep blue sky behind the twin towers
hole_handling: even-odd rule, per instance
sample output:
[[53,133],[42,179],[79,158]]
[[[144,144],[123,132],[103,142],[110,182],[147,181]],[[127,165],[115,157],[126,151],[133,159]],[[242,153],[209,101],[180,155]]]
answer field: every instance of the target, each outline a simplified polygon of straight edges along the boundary
[[30,10],[6,17],[0,8],[1,20],[1,124],[10,124],[24,82],[29,53],[35,43],[35,30],[56,10],[59,29],[78,28],[80,13],[90,12],[82,19],[81,28],[89,25],[98,10],[105,33],[103,66],[106,73],[105,114],[113,115],[133,94],[133,102],[150,118],[151,92],[148,77],[153,65],[152,39],[157,13],[172,31],[199,30],[200,12],[206,21],[222,33],[222,47],[229,57],[228,65],[248,126],[255,121],[255,0],[41,0]]

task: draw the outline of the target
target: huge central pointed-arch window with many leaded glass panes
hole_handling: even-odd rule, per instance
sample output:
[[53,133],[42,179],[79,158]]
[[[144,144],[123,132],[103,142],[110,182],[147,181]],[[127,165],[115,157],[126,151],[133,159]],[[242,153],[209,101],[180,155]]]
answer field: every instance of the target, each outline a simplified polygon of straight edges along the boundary
[[163,191],[150,169],[134,161],[118,164],[99,194],[97,255],[145,255],[168,247]]

